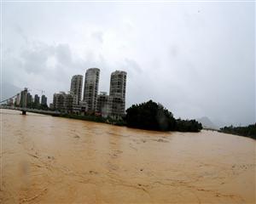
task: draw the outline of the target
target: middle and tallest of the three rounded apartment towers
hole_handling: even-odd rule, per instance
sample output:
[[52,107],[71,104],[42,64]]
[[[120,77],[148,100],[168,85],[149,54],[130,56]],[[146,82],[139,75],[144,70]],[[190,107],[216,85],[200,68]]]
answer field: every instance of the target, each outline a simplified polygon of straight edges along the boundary
[[85,73],[84,102],[88,105],[88,111],[96,111],[96,99],[98,94],[100,69],[90,68]]

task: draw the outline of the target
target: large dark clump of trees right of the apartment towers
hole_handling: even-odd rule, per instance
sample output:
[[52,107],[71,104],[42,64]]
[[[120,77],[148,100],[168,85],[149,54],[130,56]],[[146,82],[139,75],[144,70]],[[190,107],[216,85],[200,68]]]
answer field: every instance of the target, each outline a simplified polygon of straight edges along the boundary
[[202,129],[201,123],[195,120],[176,120],[171,111],[152,100],[128,108],[125,122],[127,127],[148,130],[200,132]]

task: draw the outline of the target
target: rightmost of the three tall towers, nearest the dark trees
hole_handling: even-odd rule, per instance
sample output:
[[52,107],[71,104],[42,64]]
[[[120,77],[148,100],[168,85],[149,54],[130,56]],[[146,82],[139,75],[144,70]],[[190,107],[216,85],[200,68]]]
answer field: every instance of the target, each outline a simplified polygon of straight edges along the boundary
[[109,100],[112,115],[125,115],[126,75],[125,71],[113,71],[111,74]]

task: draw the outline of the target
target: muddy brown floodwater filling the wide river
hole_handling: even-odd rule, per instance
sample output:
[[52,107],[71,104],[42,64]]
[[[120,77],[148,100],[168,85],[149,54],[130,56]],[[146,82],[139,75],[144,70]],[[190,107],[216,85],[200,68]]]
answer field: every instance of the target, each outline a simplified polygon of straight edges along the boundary
[[0,203],[255,203],[253,139],[1,110]]

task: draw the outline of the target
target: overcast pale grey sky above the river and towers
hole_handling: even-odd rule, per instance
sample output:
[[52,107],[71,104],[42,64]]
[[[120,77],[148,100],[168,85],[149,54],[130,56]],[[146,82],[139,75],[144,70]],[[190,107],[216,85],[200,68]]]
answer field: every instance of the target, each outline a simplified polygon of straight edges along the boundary
[[[255,122],[255,3],[3,3],[4,83],[69,91],[71,77],[127,71],[126,108]],[[4,87],[3,87],[4,88]]]

